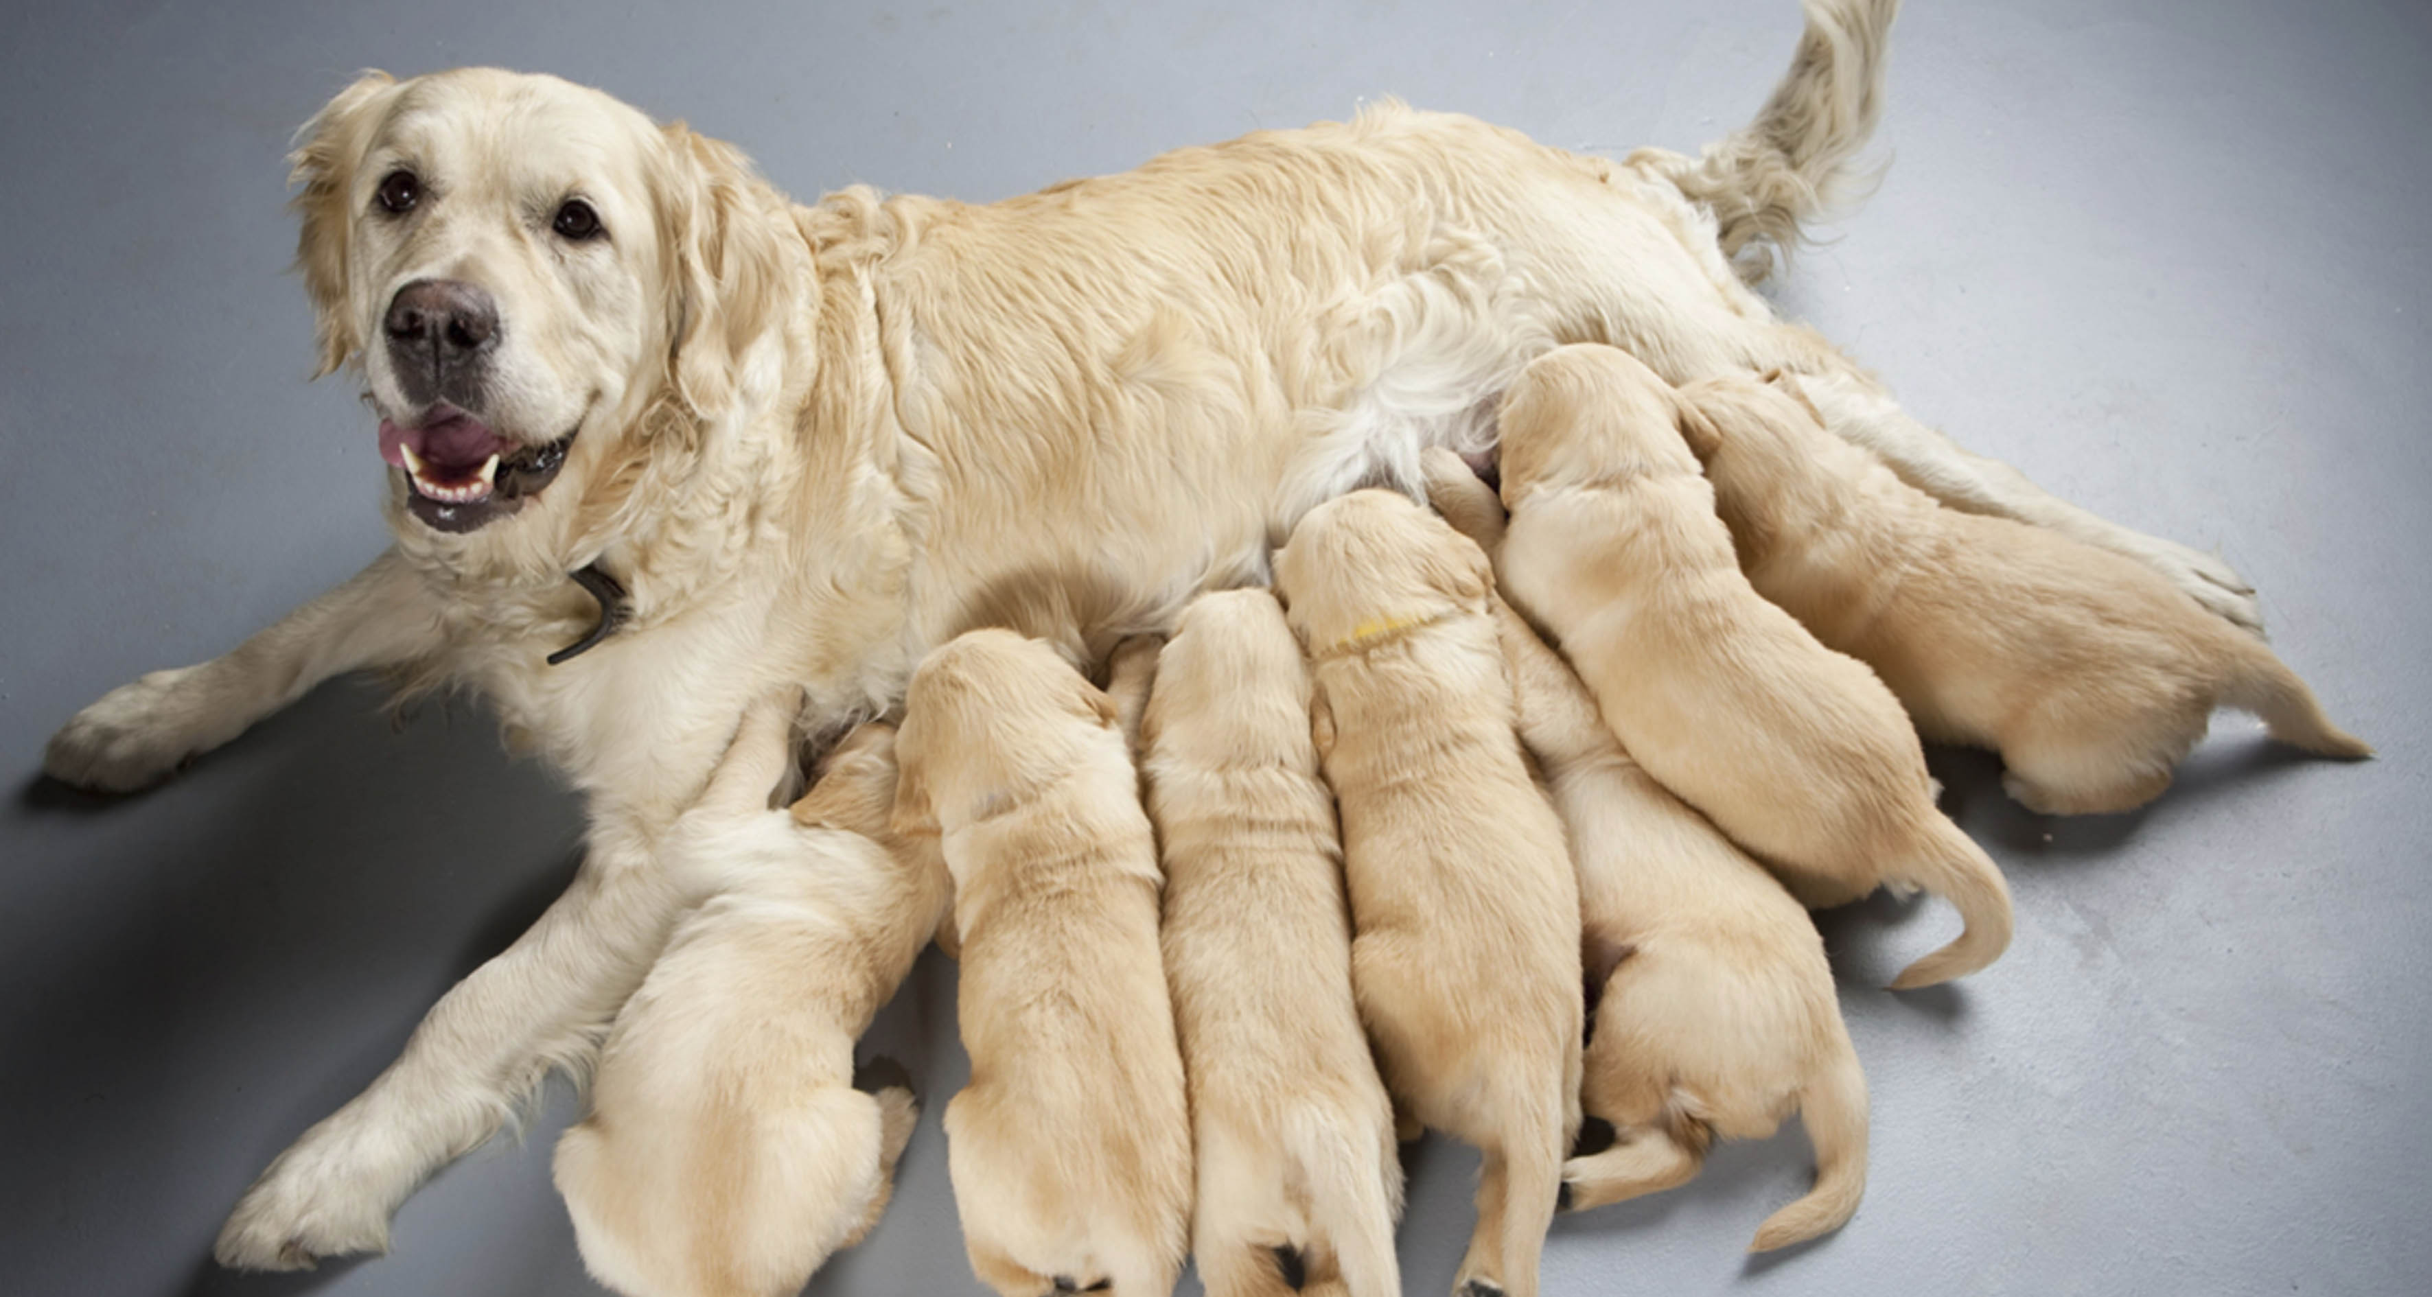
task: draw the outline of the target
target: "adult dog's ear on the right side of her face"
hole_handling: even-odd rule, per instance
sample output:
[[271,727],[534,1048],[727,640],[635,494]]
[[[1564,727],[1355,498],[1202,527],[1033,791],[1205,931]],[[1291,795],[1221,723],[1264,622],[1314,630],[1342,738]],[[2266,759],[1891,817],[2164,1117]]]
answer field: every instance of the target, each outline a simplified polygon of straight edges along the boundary
[[666,248],[669,372],[676,397],[708,416],[734,397],[734,372],[754,338],[783,311],[786,204],[734,146],[664,131],[669,180],[662,195]]

